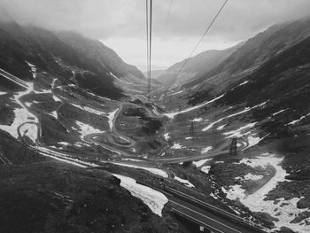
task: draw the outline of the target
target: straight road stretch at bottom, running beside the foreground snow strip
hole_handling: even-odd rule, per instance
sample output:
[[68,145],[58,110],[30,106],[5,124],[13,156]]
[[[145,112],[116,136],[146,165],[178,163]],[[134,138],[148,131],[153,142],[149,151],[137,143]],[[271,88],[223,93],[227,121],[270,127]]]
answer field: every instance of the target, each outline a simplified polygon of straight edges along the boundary
[[179,190],[174,190],[166,186],[161,188],[153,187],[148,183],[137,181],[154,190],[164,193],[169,202],[170,212],[182,218],[192,221],[198,226],[209,229],[217,233],[263,233],[260,226],[246,221],[243,218],[231,214],[217,206],[210,205],[198,198],[194,198]]

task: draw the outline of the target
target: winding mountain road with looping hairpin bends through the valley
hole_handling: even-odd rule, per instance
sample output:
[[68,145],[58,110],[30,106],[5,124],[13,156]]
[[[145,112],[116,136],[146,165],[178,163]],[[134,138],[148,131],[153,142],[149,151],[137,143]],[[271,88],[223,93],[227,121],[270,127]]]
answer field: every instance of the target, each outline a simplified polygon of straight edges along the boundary
[[[5,74],[5,77],[12,80],[12,77],[10,75]],[[18,83],[20,86],[24,87],[23,82],[19,82],[19,80],[16,80],[13,78],[13,82]],[[53,85],[54,88],[55,85]],[[26,88],[26,87],[25,87]],[[28,88],[28,87],[27,87]],[[22,97],[22,96],[21,96]],[[20,98],[20,97],[19,97]],[[20,101],[19,101],[20,102]],[[25,106],[23,103],[20,102],[20,104],[29,112],[29,114],[33,114],[30,112],[30,110],[27,109],[27,106]],[[115,122],[120,116],[120,113],[123,109],[123,103],[120,104],[119,109],[116,111],[116,113],[113,114],[113,117],[111,119],[111,134],[89,134],[87,136],[84,136],[84,140],[89,142],[90,144],[99,144],[103,147],[111,148],[114,151],[119,151],[121,155],[126,155],[128,157],[132,157],[132,155],[128,154],[125,151],[120,151],[118,149],[115,149],[114,147],[102,144],[96,140],[97,136],[105,136],[105,138],[108,140],[110,144],[118,145],[120,147],[134,147],[136,145],[136,142],[129,138],[128,136],[122,136],[118,132]],[[20,132],[20,128],[23,127],[26,124],[35,124],[37,130],[36,130],[36,140],[33,142],[33,144],[28,144],[27,140],[25,140],[24,136]],[[67,163],[73,163],[75,166],[80,167],[99,167],[99,164],[96,163],[89,163],[84,160],[82,160],[80,155],[78,153],[67,153],[64,151],[60,151],[57,149],[52,149],[46,144],[43,143],[42,140],[42,126],[41,122],[35,122],[35,121],[27,121],[23,122],[19,125],[17,128],[18,135],[23,144],[26,144],[31,150],[37,151],[44,156],[51,157],[53,159],[58,159],[65,161]],[[120,142],[117,142],[115,138],[126,141],[128,144],[123,144]],[[222,149],[222,148],[221,148]],[[141,160],[142,162],[148,163],[180,163],[185,161],[193,161],[198,159],[206,159],[206,158],[212,158],[214,156],[220,155],[220,154],[226,154],[229,151],[214,151],[203,155],[198,156],[192,156],[192,157],[175,157],[175,158],[154,158],[154,159],[144,159]],[[5,163],[4,158],[0,154],[0,160]],[[131,161],[130,163],[134,163]],[[149,186],[146,184],[146,186]],[[205,227],[206,229],[211,229],[213,232],[218,233],[251,233],[251,232],[263,232],[260,229],[253,228],[252,225],[248,224],[248,222],[243,221],[241,218],[240,220],[236,221],[238,218],[237,216],[231,216],[233,214],[224,213],[223,210],[217,208],[216,206],[213,206],[213,208],[206,208],[204,204],[199,204],[198,200],[195,200],[195,198],[189,197],[188,195],[177,191],[172,190],[168,187],[164,187],[162,190],[165,194],[167,194],[167,197],[169,198],[169,205],[171,206],[171,211],[174,214],[178,214],[184,218],[189,219],[190,221],[196,222],[198,225]]]

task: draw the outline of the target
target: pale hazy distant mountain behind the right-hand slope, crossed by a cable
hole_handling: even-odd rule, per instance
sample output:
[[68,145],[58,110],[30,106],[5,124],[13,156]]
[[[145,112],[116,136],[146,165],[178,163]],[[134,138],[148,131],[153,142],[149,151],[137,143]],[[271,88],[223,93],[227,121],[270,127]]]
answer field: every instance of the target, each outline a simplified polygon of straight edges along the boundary
[[[207,72],[213,67],[219,65],[224,59],[228,58],[229,55],[234,52],[242,43],[237,44],[226,50],[206,50],[192,57],[184,66],[181,74],[179,74],[179,83],[188,82],[194,78],[199,72]],[[156,79],[165,85],[171,85],[175,81],[175,76],[183,66],[185,59],[181,62],[175,63],[173,66],[167,68],[165,72],[162,72]],[[180,84],[181,85],[181,84]]]

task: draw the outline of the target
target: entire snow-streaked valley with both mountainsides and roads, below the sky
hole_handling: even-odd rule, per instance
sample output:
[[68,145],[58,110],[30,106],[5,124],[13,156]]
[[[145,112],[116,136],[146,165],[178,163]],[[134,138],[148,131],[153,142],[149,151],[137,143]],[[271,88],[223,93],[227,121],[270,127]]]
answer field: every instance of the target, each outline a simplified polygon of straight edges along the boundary
[[0,229],[18,232],[12,206],[31,216],[29,203],[42,216],[24,232],[308,232],[310,39],[272,36],[308,23],[206,52],[163,84],[170,68],[149,95],[102,43],[16,26],[24,49],[0,60]]

